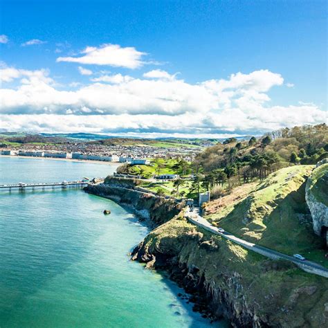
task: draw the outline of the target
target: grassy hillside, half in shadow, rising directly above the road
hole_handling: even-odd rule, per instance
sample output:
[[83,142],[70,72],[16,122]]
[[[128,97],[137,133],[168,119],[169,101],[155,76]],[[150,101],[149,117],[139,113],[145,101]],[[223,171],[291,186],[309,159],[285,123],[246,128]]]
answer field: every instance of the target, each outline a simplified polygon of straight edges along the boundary
[[328,267],[324,241],[313,233],[305,201],[312,170],[312,165],[285,167],[215,212],[208,203],[206,219],[249,242],[289,255],[302,253]]

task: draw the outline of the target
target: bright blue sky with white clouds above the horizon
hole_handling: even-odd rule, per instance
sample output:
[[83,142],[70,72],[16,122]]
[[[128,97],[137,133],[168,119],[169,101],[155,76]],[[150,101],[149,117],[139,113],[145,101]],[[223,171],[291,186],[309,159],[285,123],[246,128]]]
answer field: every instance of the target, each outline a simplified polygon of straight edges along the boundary
[[0,131],[259,135],[327,122],[327,2],[0,0]]

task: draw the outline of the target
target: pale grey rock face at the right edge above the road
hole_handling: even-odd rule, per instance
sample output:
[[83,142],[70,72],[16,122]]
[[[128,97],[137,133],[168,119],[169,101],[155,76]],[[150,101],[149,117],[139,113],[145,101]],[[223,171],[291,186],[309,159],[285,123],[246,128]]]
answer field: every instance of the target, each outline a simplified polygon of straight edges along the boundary
[[327,238],[328,245],[328,163],[313,170],[306,186],[307,205],[313,219],[313,230]]

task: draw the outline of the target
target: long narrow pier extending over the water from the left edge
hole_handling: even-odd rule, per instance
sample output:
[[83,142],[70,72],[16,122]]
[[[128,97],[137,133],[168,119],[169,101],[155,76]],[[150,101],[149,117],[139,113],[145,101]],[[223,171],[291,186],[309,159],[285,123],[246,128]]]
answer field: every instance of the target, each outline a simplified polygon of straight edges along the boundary
[[24,191],[24,190],[44,190],[44,189],[55,189],[55,188],[84,188],[89,185],[89,181],[62,181],[55,183],[17,183],[10,185],[0,185],[0,191]]

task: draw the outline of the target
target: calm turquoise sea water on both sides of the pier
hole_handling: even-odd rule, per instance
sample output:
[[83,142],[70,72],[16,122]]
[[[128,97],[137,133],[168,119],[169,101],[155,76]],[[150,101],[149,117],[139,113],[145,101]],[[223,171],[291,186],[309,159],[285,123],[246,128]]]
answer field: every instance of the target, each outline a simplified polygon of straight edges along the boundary
[[[0,184],[113,170],[0,156]],[[147,231],[118,204],[82,190],[1,192],[0,327],[210,327],[172,282],[129,261]]]

